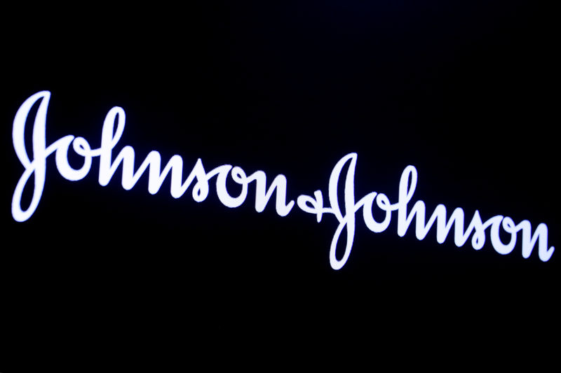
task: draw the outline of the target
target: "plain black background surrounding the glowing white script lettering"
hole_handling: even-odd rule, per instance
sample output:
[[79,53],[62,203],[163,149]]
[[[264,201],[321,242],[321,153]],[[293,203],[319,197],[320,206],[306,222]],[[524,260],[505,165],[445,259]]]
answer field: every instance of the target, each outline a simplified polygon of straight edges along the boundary
[[200,157],[205,169],[284,174],[290,199],[326,197],[334,164],[357,152],[358,197],[396,201],[413,164],[414,200],[428,211],[442,203],[467,218],[478,210],[483,220],[546,223],[559,245],[553,10],[536,1],[96,3],[4,17],[6,372],[108,358],[214,365],[230,361],[224,353],[353,360],[345,346],[402,363],[555,356],[559,254],[544,263],[537,247],[525,260],[520,244],[499,255],[487,239],[474,251],[452,237],[438,244],[432,231],[400,238],[396,216],[381,234],[359,218],[349,262],[334,271],[333,216],[318,224],[295,207],[280,218],[273,204],[257,213],[251,189],[237,209],[213,188],[201,204],[165,186],[149,195],[147,178],[126,191],[119,171],[101,187],[95,160],[69,182],[50,158],[32,218],[16,223],[10,211],[22,173],[13,115],[50,90],[47,143],[74,134],[99,146],[104,115],[121,106],[118,148],[182,155],[186,171]]

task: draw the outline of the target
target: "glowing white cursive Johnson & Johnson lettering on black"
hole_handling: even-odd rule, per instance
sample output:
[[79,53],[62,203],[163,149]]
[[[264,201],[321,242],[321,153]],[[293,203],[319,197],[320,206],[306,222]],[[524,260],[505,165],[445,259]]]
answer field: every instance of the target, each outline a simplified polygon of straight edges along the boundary
[[[210,181],[216,178],[215,188],[219,201],[229,208],[241,206],[248,197],[248,187],[255,182],[255,211],[262,212],[266,208],[273,194],[276,195],[275,210],[279,216],[288,216],[295,202],[287,202],[287,179],[279,174],[267,188],[267,178],[264,171],[255,171],[248,176],[238,166],[222,164],[210,171],[205,171],[203,161],[198,158],[189,172],[187,178],[183,176],[184,161],[180,155],[173,155],[162,169],[160,153],[152,150],[135,169],[135,149],[132,146],[123,146],[114,156],[114,150],[123,135],[126,115],[123,108],[116,106],[107,113],[102,127],[99,148],[91,148],[90,143],[83,137],[73,135],[63,136],[57,141],[46,145],[46,115],[50,92],[42,91],[33,94],[20,106],[13,121],[12,139],[15,154],[20,160],[24,171],[20,177],[12,198],[12,216],[18,222],[28,220],[36,211],[43,195],[46,182],[46,162],[49,155],[55,153],[55,164],[60,175],[69,181],[79,181],[90,172],[94,157],[100,157],[100,169],[98,182],[106,186],[113,178],[115,172],[121,167],[121,185],[123,189],[134,188],[142,175],[148,173],[148,192],[156,194],[165,178],[170,177],[170,195],[173,198],[182,197],[192,187],[191,197],[196,202],[203,202],[208,197]],[[32,106],[39,103],[39,108],[33,121],[32,149],[31,155],[25,148],[25,124]],[[74,169],[68,161],[68,152],[72,144],[72,150],[83,158],[83,164],[79,169]],[[534,246],[538,244],[538,255],[543,262],[548,261],[553,255],[555,248],[548,247],[548,227],[541,223],[532,234],[532,225],[529,220],[522,220],[515,224],[508,216],[492,216],[485,222],[481,219],[479,211],[473,213],[467,227],[464,210],[456,208],[447,217],[447,209],[443,204],[435,207],[431,216],[426,219],[426,205],[419,200],[412,204],[412,198],[417,188],[417,169],[407,166],[401,174],[398,186],[398,201],[391,203],[384,193],[370,192],[356,201],[355,197],[355,173],[358,155],[349,153],[335,164],[332,169],[329,183],[327,185],[327,202],[324,206],[324,198],[321,190],[313,192],[313,197],[300,195],[297,197],[297,206],[305,213],[316,215],[318,223],[324,214],[332,214],[339,225],[335,230],[329,253],[330,265],[333,269],[341,269],[349,260],[351,249],[356,234],[356,214],[362,209],[363,221],[366,227],[374,233],[381,233],[388,229],[392,216],[397,218],[398,236],[404,237],[410,226],[414,225],[415,237],[419,240],[435,227],[436,241],[439,244],[445,242],[448,234],[453,232],[454,244],[458,247],[464,246],[471,237],[471,246],[480,250],[484,245],[489,231],[489,238],[494,250],[506,255],[511,253],[521,233],[522,257],[529,258]],[[344,169],[346,168],[346,172]],[[34,176],[32,199],[27,208],[22,207],[22,193],[29,179]],[[227,181],[233,181],[241,186],[237,195],[231,195],[227,188]],[[339,190],[342,185],[342,191]],[[342,192],[342,205],[339,204],[339,194]],[[412,206],[411,206],[412,204]],[[374,213],[374,210],[378,211]],[[380,213],[380,216],[378,214]],[[396,216],[397,215],[397,216]],[[509,237],[507,243],[501,240],[503,236]],[[339,241],[344,234],[345,241],[342,255],[337,255]],[[340,257],[340,258],[338,258]]]

